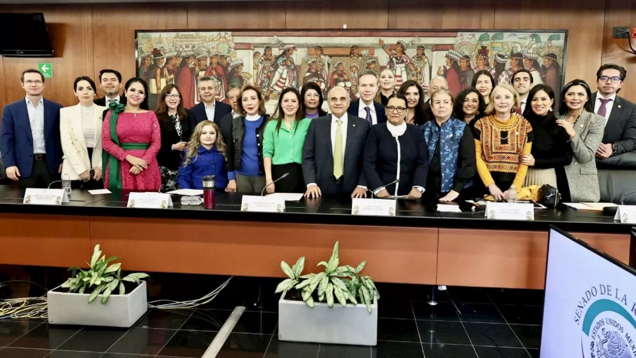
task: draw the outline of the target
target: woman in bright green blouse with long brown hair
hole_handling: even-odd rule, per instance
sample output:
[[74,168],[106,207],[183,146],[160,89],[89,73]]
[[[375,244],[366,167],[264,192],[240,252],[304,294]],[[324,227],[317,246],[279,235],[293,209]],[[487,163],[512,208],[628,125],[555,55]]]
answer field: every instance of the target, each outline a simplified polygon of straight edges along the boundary
[[[268,193],[302,192],[307,190],[303,179],[303,144],[311,120],[300,110],[300,94],[293,87],[280,92],[273,119],[265,125],[263,133],[263,163]],[[283,178],[273,183],[273,180]]]

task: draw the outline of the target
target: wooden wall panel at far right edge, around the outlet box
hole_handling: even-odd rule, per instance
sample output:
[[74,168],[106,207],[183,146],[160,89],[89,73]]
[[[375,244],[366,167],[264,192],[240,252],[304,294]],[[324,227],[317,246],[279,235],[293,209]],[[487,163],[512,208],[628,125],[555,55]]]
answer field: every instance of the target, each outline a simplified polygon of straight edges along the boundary
[[[636,26],[636,1],[606,0],[605,30],[603,31],[602,63],[616,63],[627,69],[627,80],[621,96],[636,102],[636,55],[630,52],[628,39],[614,39],[614,26]],[[636,39],[632,39],[636,48]]]

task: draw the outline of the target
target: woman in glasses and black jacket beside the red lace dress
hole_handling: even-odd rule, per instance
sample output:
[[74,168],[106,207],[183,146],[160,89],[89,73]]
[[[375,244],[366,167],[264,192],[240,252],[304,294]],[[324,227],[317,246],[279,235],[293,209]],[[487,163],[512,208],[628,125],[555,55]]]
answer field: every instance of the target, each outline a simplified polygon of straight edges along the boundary
[[163,87],[158,98],[156,116],[161,129],[161,148],[157,154],[163,190],[177,189],[177,175],[183,150],[190,141],[192,129],[188,111],[183,108],[181,91],[176,85]]

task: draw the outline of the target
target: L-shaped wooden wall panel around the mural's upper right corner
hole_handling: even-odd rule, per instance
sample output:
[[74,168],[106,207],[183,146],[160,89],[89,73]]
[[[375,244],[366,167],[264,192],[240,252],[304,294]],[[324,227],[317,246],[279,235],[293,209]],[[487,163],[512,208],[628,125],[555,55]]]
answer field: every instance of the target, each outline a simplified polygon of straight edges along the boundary
[[567,29],[565,81],[593,87],[601,64],[605,0],[496,0],[495,29]]

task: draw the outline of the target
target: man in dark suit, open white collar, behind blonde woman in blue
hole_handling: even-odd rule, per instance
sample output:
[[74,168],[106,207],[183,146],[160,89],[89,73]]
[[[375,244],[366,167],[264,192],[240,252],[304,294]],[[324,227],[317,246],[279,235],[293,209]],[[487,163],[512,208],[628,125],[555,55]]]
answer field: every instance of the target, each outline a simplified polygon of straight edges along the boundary
[[216,100],[217,86],[218,83],[212,77],[205,76],[199,80],[198,91],[203,101],[190,108],[190,125],[192,129],[204,120],[211,120],[221,127],[221,118],[232,111],[232,107],[229,104]]

